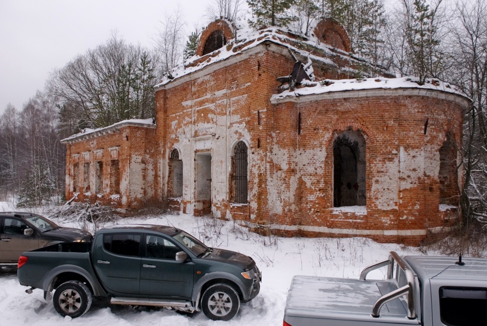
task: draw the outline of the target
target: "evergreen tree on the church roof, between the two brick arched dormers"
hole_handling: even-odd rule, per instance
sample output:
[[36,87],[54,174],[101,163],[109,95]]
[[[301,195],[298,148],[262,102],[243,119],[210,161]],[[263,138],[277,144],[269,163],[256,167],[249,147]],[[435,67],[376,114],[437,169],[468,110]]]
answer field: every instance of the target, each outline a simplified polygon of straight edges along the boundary
[[286,26],[295,19],[288,13],[292,3],[292,0],[247,0],[255,16],[254,20],[249,20],[249,24],[254,28]]

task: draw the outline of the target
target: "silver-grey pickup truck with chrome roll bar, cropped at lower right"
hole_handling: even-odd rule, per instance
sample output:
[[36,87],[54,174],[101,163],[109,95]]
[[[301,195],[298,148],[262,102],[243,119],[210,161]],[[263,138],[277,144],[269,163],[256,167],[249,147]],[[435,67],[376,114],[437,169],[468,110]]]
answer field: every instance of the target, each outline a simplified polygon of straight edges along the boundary
[[[367,274],[387,266],[387,279]],[[294,276],[284,326],[485,325],[487,259],[405,256],[359,279]]]

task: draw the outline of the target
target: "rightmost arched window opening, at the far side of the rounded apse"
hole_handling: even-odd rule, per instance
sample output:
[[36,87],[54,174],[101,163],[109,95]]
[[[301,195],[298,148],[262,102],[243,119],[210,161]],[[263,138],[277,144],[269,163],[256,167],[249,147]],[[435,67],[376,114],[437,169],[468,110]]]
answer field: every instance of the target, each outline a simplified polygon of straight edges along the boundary
[[440,170],[438,173],[440,204],[455,205],[458,197],[457,150],[453,137],[447,135],[440,148]]

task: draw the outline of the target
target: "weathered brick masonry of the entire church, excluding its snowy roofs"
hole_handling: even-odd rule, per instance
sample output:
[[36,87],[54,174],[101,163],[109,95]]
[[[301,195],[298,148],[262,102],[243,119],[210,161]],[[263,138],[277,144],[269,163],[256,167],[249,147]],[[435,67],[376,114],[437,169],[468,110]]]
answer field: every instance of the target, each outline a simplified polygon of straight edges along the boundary
[[[208,26],[205,35],[221,26]],[[229,30],[223,28],[226,38]],[[280,84],[276,78],[289,75],[293,64],[283,45],[264,43],[160,85],[155,129],[126,126],[67,144],[66,198],[77,193],[78,200],[133,208],[169,200],[171,209],[212,213],[257,232],[413,245],[458,223],[456,184],[462,180],[441,163],[440,150],[459,159],[445,143],[460,143],[464,98],[436,90],[379,89],[271,102]],[[317,64],[317,78],[337,76],[323,67]],[[364,143],[363,182],[356,186],[363,187],[364,205],[334,207],[334,149],[344,133]],[[352,147],[355,138],[347,140]],[[239,141],[248,148],[247,203],[232,200]],[[179,165],[170,159],[174,150]],[[116,181],[114,160],[118,197],[110,187]],[[101,195],[92,191],[99,161]],[[85,162],[89,189],[82,177]],[[175,183],[182,187],[177,196]]]

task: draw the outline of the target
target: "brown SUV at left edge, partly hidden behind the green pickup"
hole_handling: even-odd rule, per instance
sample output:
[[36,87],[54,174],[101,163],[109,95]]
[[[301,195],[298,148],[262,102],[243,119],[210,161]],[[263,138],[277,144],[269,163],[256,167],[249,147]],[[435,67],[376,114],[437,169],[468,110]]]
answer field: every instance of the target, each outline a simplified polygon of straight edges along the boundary
[[60,227],[38,214],[0,212],[0,266],[16,266],[24,251],[59,242],[92,240],[89,232]]

